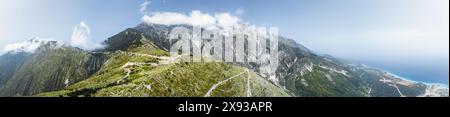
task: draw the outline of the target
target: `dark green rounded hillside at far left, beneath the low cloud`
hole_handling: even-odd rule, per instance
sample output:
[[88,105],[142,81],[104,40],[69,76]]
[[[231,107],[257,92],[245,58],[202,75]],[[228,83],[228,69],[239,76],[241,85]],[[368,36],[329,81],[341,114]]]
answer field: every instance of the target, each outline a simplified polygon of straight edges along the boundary
[[0,95],[28,96],[65,88],[96,72],[101,64],[95,57],[77,48],[42,48],[19,62],[15,72],[2,72],[13,74],[1,86]]

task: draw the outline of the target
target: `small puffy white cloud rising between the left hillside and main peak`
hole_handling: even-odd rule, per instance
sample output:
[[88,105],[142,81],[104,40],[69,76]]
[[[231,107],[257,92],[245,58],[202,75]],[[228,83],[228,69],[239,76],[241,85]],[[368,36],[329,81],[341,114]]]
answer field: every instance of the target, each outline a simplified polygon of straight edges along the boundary
[[70,44],[82,49],[92,50],[101,48],[102,45],[94,43],[90,40],[91,31],[89,26],[83,21],[79,25],[75,26],[70,39]]

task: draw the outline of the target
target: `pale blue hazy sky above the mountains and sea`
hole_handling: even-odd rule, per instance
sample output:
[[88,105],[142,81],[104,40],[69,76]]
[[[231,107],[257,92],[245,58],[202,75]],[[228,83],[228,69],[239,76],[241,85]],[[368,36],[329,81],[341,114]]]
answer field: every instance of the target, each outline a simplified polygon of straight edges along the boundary
[[[141,22],[144,0],[0,0],[0,48],[33,37],[69,42],[84,22],[101,42]],[[276,26],[322,54],[352,60],[412,62],[449,53],[448,0],[150,0],[146,12],[229,12]],[[236,13],[240,10],[240,13]],[[415,60],[410,60],[415,58]],[[408,62],[405,64],[409,64]],[[448,72],[447,72],[448,74]],[[447,75],[448,77],[448,75]]]

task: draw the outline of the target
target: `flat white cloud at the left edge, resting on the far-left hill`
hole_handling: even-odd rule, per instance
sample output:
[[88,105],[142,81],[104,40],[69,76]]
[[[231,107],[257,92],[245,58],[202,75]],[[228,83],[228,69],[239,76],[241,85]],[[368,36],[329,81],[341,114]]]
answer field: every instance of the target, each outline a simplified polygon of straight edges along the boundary
[[[53,38],[40,38],[36,37],[28,41],[24,42],[18,42],[18,43],[12,43],[8,44],[0,51],[0,55],[7,53],[7,52],[28,52],[33,53],[38,49],[42,44],[45,44],[49,41],[56,41]],[[60,43],[60,42],[58,42]]]

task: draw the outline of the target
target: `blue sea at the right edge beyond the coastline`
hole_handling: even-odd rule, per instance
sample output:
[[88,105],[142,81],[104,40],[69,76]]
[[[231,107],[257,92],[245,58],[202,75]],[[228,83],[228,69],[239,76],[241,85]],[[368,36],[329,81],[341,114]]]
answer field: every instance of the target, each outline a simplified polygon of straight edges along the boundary
[[448,58],[372,60],[364,63],[409,80],[449,85]]

